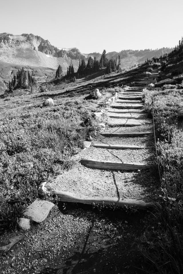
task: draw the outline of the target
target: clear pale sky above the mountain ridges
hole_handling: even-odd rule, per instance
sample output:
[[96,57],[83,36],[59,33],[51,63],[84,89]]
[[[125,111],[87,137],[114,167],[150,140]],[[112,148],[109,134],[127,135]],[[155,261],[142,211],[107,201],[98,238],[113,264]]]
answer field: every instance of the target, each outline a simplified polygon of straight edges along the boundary
[[0,33],[33,33],[82,53],[174,47],[183,0],[0,0]]

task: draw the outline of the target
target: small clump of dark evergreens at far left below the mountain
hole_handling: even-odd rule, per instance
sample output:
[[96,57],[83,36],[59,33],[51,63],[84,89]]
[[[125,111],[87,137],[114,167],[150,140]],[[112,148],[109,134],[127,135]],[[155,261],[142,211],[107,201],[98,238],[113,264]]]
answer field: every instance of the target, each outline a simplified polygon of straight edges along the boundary
[[9,81],[8,90],[11,92],[16,88],[29,88],[30,86],[36,86],[36,80],[31,76],[29,70],[24,68],[17,71],[17,76],[13,75],[11,81]]

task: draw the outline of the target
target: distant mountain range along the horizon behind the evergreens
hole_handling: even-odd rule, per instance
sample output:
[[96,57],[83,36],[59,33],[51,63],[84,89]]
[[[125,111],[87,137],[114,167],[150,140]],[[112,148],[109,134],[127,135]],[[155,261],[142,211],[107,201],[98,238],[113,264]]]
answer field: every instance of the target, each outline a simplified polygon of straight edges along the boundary
[[[107,53],[108,59],[121,57],[121,68],[126,69],[135,64],[144,63],[148,58],[159,57],[171,52],[172,49],[162,48],[156,50],[123,50]],[[79,59],[100,59],[100,53],[81,53],[77,48],[62,49],[50,44],[40,36],[33,34],[12,35],[0,34],[0,90],[5,89],[5,84],[11,80],[13,73],[21,67],[27,68],[38,81],[45,81],[49,76],[54,77],[55,69],[61,65],[63,73],[67,67],[73,65],[75,72],[79,66]],[[49,69],[48,69],[49,68]]]

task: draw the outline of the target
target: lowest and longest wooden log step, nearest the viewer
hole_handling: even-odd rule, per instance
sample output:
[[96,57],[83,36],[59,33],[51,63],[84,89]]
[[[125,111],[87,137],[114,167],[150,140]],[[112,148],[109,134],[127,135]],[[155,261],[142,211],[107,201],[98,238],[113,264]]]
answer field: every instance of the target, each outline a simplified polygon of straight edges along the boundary
[[62,202],[81,203],[81,204],[116,204],[119,207],[134,206],[145,210],[154,207],[152,202],[144,202],[136,199],[122,199],[118,197],[88,197],[86,195],[77,195],[67,191],[52,191],[54,196],[57,196]]

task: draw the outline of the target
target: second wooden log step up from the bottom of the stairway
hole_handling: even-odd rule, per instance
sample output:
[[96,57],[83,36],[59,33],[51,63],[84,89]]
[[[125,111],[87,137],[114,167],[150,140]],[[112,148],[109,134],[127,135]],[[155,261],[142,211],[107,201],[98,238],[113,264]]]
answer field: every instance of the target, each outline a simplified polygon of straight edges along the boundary
[[138,170],[138,169],[149,169],[153,167],[153,165],[141,164],[141,163],[97,161],[97,160],[88,160],[88,159],[81,159],[80,163],[87,167],[101,168],[101,169],[115,169],[115,170]]

